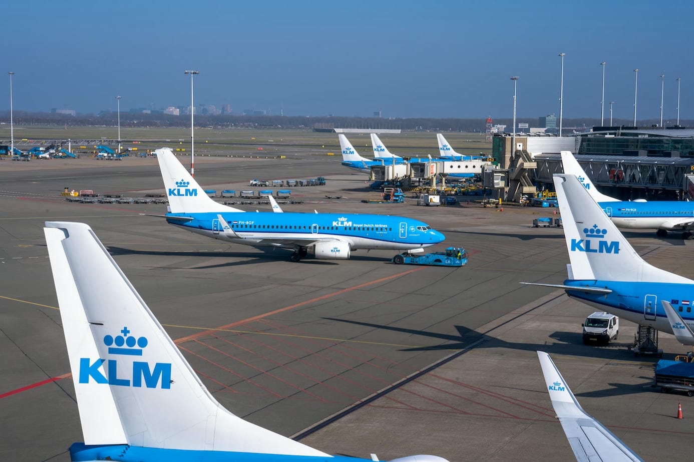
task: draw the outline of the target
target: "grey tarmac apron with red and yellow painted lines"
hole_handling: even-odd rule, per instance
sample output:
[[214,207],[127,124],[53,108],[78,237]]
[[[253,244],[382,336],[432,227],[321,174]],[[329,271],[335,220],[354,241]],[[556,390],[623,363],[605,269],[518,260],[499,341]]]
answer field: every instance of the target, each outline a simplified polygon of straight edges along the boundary
[[[326,186],[291,188],[303,204],[282,208],[415,217],[446,235],[431,250],[465,247],[468,265],[393,265],[393,251],[291,263],[284,251],[228,245],[139,215],[162,214],[164,205],[60,197],[66,187],[161,193],[152,158],[0,162],[0,459],[68,461],[69,445],[82,441],[46,220],[92,226],[222,405],[319,450],[380,460],[570,460],[535,353],[544,350],[582,407],[643,459],[690,459],[694,401],[652,386],[657,358],[629,349],[636,326],[621,320],[609,346],[583,345],[592,308],[520,284],[566,277],[561,228],[531,226],[556,209],[498,211],[466,196],[456,206],[417,206],[412,194],[405,204],[363,204],[378,193],[333,159],[196,159],[196,179],[218,191],[260,189],[248,186],[260,177],[317,176]],[[694,277],[691,241],[626,234],[653,265]],[[94,284],[108,281],[95,274]],[[663,333],[660,348],[670,359],[686,353]]]

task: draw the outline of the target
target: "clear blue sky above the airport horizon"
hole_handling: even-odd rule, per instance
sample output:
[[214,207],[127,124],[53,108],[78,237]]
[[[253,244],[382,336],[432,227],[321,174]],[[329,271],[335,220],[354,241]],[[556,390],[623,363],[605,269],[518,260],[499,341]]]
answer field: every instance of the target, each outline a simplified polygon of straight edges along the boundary
[[[694,2],[11,1],[14,108],[78,112],[195,102],[285,115],[694,118]],[[4,72],[3,72],[4,73]],[[0,110],[9,109],[9,82]],[[1,87],[1,86],[0,86]]]

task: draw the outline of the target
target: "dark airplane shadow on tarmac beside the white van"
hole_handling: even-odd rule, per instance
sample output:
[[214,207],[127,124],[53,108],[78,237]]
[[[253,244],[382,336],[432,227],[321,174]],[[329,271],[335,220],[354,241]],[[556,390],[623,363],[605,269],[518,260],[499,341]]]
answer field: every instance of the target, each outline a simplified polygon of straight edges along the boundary
[[[344,323],[355,324],[357,326],[371,327],[375,329],[391,330],[393,332],[403,332],[409,335],[418,335],[421,337],[429,339],[438,339],[444,341],[445,343],[434,344],[432,346],[423,346],[419,348],[403,348],[402,351],[425,351],[425,350],[464,350],[470,347],[477,341],[482,340],[473,348],[511,348],[514,350],[527,350],[527,351],[546,351],[550,355],[570,355],[570,356],[584,356],[584,357],[600,357],[604,359],[620,360],[622,355],[632,356],[631,360],[635,360],[633,353],[627,351],[626,349],[621,350],[617,348],[630,346],[631,343],[627,344],[616,344],[614,342],[609,344],[609,347],[596,348],[591,345],[582,344],[582,335],[577,332],[554,332],[550,335],[550,338],[556,339],[562,343],[556,344],[528,344],[528,343],[513,343],[505,340],[497,339],[496,337],[491,337],[486,335],[486,333],[480,333],[476,330],[468,329],[464,326],[455,326],[459,335],[444,334],[441,332],[428,332],[426,330],[417,329],[407,329],[407,328],[397,328],[393,326],[384,326],[382,324],[367,323],[362,321],[349,321],[347,319],[337,319],[337,318],[323,318],[330,321],[338,321]],[[564,343],[568,342],[568,343]],[[643,357],[641,358],[644,362],[644,366],[655,366],[657,357]],[[645,368],[648,371],[648,367]],[[610,388],[589,391],[586,393],[575,393],[576,396],[587,396],[587,397],[603,397],[603,396],[621,396],[629,395],[634,393],[643,393],[646,387],[653,384],[653,375],[645,375],[643,377],[638,377],[643,379],[643,382],[638,384],[621,384],[621,383],[608,383]]]

